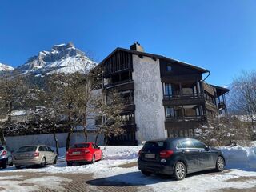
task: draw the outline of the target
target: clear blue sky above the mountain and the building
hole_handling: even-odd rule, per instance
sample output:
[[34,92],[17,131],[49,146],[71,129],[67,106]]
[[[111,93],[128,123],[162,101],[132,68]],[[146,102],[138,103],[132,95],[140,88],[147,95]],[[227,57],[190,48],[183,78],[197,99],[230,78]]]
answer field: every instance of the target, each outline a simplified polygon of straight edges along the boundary
[[256,69],[255,10],[253,0],[0,0],[0,62],[18,66],[70,41],[99,62],[138,41],[228,85]]

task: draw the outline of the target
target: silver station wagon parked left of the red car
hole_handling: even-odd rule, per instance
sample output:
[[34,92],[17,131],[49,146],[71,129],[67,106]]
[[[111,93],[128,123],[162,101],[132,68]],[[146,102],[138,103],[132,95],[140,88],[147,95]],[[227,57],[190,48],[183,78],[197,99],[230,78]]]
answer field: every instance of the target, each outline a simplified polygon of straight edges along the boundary
[[14,165],[17,169],[21,166],[46,166],[56,164],[57,154],[50,146],[22,146],[14,154]]

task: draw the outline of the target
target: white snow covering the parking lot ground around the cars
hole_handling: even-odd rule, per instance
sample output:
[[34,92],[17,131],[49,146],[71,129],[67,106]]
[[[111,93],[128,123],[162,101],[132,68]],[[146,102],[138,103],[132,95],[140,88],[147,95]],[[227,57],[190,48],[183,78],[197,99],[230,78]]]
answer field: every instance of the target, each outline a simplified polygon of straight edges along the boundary
[[[137,162],[138,150],[142,146],[101,146],[104,160],[95,164],[83,166],[66,166],[64,148],[59,149],[58,164],[47,166],[42,169],[16,170],[9,167],[0,172],[48,172],[48,173],[83,173],[94,174],[94,178],[103,178],[108,182],[122,182],[127,185],[139,186],[141,191],[148,191],[148,187],[154,191],[215,191],[225,188],[249,189],[256,185],[256,142],[250,147],[221,147],[226,158],[226,170],[222,173],[207,171],[206,173],[189,174],[182,181],[174,181],[169,177],[150,176],[146,177],[138,170],[138,166],[123,168],[119,165]],[[136,165],[136,164],[135,164]],[[234,178],[246,178],[237,181]],[[0,186],[2,177],[0,177]],[[34,182],[39,182],[34,178]],[[40,178],[42,179],[42,178]],[[49,186],[58,186],[61,178],[44,178],[51,183]],[[232,180],[233,179],[233,180]],[[14,183],[11,184],[15,186]]]

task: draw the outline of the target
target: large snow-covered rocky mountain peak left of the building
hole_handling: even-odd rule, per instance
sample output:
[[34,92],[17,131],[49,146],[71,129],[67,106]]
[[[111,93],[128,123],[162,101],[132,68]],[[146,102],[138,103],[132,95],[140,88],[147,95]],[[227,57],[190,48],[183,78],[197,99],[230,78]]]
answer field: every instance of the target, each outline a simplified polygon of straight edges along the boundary
[[37,56],[31,57],[16,70],[22,74],[34,74],[43,76],[45,74],[74,72],[86,73],[96,63],[86,57],[85,53],[74,47],[72,42],[55,45],[50,51],[41,51]]

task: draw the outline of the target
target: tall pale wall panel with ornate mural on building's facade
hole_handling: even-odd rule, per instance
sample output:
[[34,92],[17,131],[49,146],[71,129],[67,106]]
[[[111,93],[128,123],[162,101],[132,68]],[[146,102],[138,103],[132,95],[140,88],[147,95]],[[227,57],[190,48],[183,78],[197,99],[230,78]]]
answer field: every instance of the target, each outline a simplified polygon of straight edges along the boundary
[[166,138],[159,60],[133,55],[133,63],[135,122],[138,129],[136,139],[140,143]]

